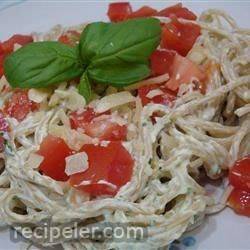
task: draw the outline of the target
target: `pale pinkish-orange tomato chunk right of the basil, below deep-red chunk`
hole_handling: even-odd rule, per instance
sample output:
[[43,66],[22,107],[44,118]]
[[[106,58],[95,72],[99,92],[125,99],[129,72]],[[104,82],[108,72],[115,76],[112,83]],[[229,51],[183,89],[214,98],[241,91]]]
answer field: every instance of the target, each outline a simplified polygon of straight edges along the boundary
[[206,86],[203,82],[206,74],[195,63],[176,54],[171,70],[171,77],[166,83],[167,88],[177,91],[181,84],[193,82],[196,88],[204,93]]

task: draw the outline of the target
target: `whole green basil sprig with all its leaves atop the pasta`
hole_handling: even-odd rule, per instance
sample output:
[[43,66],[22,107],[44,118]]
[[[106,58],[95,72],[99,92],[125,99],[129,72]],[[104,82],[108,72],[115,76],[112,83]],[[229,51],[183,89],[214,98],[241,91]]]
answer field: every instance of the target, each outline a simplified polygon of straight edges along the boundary
[[160,42],[155,18],[87,25],[80,43],[72,48],[60,42],[35,42],[4,61],[12,87],[44,88],[81,77],[79,93],[91,98],[91,82],[123,87],[150,75],[149,56]]

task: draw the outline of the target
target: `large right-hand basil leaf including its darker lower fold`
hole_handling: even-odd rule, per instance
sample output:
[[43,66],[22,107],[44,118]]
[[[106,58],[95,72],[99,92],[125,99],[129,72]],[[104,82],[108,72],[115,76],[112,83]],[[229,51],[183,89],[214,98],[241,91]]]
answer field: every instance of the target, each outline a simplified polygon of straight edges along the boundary
[[160,22],[155,18],[92,23],[81,35],[80,56],[89,64],[93,80],[128,85],[149,75],[149,56],[160,36]]

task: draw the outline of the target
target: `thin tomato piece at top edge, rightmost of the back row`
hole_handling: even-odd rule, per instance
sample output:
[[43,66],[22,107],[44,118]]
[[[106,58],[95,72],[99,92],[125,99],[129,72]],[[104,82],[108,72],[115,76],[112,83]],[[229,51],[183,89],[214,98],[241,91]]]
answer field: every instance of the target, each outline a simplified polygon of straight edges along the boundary
[[164,17],[170,17],[172,15],[188,20],[197,19],[197,16],[193,12],[191,12],[188,8],[182,7],[181,3],[167,7],[157,13],[157,16],[164,16]]

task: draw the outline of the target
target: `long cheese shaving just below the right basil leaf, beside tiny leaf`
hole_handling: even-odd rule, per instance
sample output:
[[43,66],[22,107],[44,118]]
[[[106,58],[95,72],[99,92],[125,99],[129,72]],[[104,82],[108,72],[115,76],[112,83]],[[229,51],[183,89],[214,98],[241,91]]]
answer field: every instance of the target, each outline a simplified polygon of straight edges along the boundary
[[110,110],[111,108],[134,101],[135,101],[134,96],[132,96],[128,91],[122,91],[119,93],[103,97],[101,100],[98,101],[95,107],[95,111],[97,113],[103,113]]

